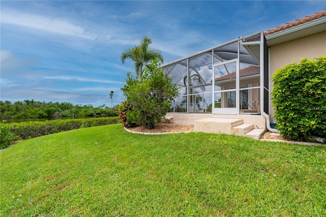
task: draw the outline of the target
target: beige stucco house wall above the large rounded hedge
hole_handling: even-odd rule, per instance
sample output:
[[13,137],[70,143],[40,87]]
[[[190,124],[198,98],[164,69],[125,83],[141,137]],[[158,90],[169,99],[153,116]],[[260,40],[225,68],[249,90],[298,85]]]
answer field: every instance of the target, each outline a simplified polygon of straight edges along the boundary
[[[322,55],[326,55],[326,32],[270,46],[270,78],[273,78],[277,69],[285,65],[298,62],[301,58],[313,59]],[[271,90],[273,90],[273,83],[271,83]],[[271,117],[273,116],[272,107]]]

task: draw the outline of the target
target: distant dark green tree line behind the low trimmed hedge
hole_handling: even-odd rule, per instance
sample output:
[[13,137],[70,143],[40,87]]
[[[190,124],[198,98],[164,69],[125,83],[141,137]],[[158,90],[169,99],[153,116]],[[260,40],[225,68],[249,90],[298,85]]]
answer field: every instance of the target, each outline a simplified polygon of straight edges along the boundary
[[105,104],[99,107],[89,105],[73,105],[72,103],[40,102],[24,100],[11,103],[0,101],[0,116],[2,118],[43,118],[43,117],[70,117],[74,110],[75,116],[107,116],[118,115],[118,108],[107,107]]

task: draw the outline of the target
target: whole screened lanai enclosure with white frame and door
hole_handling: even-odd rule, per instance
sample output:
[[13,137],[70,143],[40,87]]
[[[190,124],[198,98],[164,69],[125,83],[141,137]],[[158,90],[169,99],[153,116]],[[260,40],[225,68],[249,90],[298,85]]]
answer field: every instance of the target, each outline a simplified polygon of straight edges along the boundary
[[268,113],[265,44],[260,32],[162,65],[180,87],[170,112],[259,114],[265,92]]

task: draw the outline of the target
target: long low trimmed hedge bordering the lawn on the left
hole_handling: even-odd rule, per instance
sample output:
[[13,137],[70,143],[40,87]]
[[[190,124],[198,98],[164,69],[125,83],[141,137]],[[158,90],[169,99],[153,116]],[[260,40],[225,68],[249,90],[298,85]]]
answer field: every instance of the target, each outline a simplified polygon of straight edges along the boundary
[[[57,119],[46,120],[45,122],[21,122],[1,123],[6,132],[12,133],[19,139],[30,139],[62,131],[74,130],[86,127],[95,127],[119,123],[118,117],[97,117],[86,119]],[[5,138],[1,135],[1,138]],[[3,139],[1,139],[3,143]]]

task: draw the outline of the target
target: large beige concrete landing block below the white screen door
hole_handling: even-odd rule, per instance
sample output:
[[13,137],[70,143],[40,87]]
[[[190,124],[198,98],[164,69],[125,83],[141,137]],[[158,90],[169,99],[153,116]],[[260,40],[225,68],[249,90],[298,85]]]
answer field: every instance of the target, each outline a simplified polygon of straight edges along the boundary
[[243,123],[237,118],[205,118],[195,120],[195,131],[203,133],[225,133],[232,134],[232,127]]

